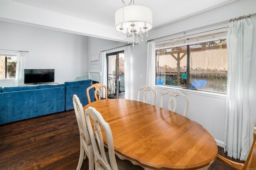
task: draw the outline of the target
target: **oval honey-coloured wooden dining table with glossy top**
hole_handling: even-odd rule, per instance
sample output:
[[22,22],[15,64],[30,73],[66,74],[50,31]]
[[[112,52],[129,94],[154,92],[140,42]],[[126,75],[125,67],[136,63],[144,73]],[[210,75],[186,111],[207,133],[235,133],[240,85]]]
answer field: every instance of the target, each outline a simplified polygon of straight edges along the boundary
[[210,133],[178,113],[126,99],[100,100],[84,109],[90,106],[110,125],[116,154],[145,169],[204,169],[216,159]]

